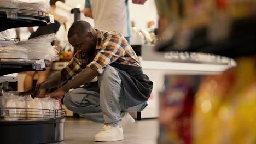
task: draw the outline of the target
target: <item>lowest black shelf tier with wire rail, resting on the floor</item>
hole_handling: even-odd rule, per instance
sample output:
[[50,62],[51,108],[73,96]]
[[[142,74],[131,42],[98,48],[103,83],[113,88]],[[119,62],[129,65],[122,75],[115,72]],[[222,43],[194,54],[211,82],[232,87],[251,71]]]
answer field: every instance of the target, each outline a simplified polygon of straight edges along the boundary
[[[39,120],[19,120],[5,121],[0,120],[1,143],[8,144],[28,144],[28,143],[51,143],[64,140],[64,110],[28,109],[20,108],[15,110],[18,113],[31,111],[35,115],[32,118]],[[34,112],[34,111],[41,112]],[[0,118],[21,118],[10,115],[11,108],[0,108]],[[46,112],[45,112],[46,111]],[[47,112],[48,111],[48,112]],[[26,112],[27,114],[28,112]],[[35,114],[36,113],[36,114]],[[45,114],[46,113],[46,114]],[[23,114],[22,114],[23,115]],[[24,119],[28,119],[26,115]],[[41,117],[43,116],[43,118]]]

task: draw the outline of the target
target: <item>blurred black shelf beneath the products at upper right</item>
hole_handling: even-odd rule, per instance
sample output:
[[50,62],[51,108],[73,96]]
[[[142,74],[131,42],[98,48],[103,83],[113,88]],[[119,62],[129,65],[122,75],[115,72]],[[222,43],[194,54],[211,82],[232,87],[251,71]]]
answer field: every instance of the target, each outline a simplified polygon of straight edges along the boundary
[[181,49],[170,39],[156,45],[159,52],[203,52],[230,58],[250,56],[256,53],[256,16],[237,19],[232,22],[229,39],[210,43],[207,40],[207,28],[196,29],[194,36],[190,39],[190,45]]

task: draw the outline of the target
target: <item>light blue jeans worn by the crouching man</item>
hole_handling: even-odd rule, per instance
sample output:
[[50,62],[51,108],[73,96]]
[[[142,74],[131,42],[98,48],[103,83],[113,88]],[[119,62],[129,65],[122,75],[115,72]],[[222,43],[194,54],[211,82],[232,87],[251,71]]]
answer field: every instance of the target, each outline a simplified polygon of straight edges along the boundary
[[105,124],[118,124],[121,122],[122,112],[142,111],[147,104],[145,102],[126,107],[121,79],[117,70],[111,66],[107,66],[98,76],[98,82],[66,93],[63,102],[68,110]]

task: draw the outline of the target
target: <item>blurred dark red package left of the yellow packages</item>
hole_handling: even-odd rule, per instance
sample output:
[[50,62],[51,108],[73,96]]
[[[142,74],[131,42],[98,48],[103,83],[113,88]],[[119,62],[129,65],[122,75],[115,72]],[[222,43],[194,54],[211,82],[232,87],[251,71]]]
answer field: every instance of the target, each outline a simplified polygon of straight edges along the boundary
[[165,77],[165,92],[160,98],[159,143],[191,143],[192,110],[195,89],[201,76]]

